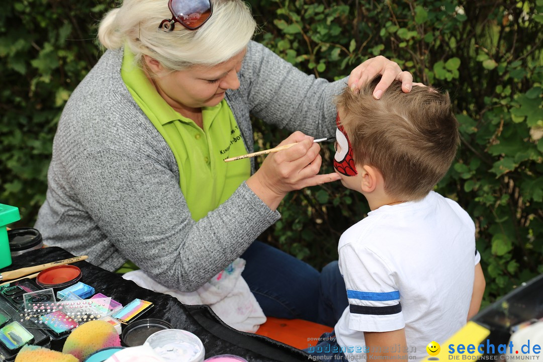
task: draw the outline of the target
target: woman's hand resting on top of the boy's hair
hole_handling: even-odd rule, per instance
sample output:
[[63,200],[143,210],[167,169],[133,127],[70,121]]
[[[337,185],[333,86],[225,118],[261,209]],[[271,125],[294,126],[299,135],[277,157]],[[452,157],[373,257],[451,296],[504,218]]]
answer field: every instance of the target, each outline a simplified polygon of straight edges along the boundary
[[361,65],[352,70],[347,84],[352,91],[358,91],[365,82],[374,79],[376,75],[381,74],[381,81],[375,87],[373,96],[380,99],[392,82],[400,80],[402,90],[406,93],[413,87],[413,75],[409,72],[402,72],[400,66],[382,55],[364,61]]

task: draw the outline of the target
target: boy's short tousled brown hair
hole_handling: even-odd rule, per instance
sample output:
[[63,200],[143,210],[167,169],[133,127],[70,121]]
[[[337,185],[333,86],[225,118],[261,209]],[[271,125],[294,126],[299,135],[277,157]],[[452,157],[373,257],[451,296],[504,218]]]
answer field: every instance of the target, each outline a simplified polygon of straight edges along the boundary
[[403,93],[395,81],[376,100],[372,93],[380,79],[367,82],[359,93],[345,88],[336,98],[340,122],[355,163],[377,168],[387,194],[403,201],[422,199],[456,155],[458,122],[449,94],[422,86]]

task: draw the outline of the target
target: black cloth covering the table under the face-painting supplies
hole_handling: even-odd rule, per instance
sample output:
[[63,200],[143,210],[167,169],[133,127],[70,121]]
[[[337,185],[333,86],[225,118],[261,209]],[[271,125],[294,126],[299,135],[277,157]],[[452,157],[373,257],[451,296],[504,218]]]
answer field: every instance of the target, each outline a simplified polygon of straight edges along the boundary
[[[14,257],[13,263],[0,272],[71,257],[73,257],[71,253],[60,247],[47,247]],[[153,302],[154,307],[142,318],[162,319],[171,323],[173,328],[194,333],[204,344],[206,358],[218,354],[235,354],[249,362],[308,360],[309,355],[296,348],[264,336],[236,331],[225,325],[207,306],[187,306],[172,296],[141,288],[132,281],[124,280],[119,274],[86,261],[73,265],[81,269],[80,281],[91,285],[96,293],[109,296],[123,305],[136,298]],[[53,348],[60,349],[59,346]]]

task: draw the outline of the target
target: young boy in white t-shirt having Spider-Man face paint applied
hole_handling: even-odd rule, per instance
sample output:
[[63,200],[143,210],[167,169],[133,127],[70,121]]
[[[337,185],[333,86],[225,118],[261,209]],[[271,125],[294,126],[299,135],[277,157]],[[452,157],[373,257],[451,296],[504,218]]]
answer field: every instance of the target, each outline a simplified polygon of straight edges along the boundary
[[334,328],[337,342],[324,338],[329,346],[309,352],[421,359],[478,311],[484,277],[473,221],[432,191],[459,142],[448,94],[422,86],[403,93],[397,82],[375,100],[378,80],[337,98],[334,168],[371,212],[339,240],[349,307]]

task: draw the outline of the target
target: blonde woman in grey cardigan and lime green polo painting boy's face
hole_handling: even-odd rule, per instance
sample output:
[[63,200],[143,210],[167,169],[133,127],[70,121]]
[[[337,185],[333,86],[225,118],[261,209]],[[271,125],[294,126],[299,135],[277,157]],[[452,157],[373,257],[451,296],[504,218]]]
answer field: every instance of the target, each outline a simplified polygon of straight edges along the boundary
[[[131,261],[182,291],[241,256],[266,315],[333,326],[347,303],[337,264],[321,275],[255,239],[289,191],[339,180],[318,174],[310,136],[334,135],[332,96],[346,80],[300,72],[251,41],[255,28],[241,0],[111,10],[98,33],[108,50],[62,112],[35,227],[48,245],[111,271]],[[394,79],[411,89],[411,74],[382,57],[355,68],[349,85],[377,73],[376,98]],[[256,172],[252,158],[223,162],[253,150],[250,114],[295,131],[282,144],[299,142]]]

